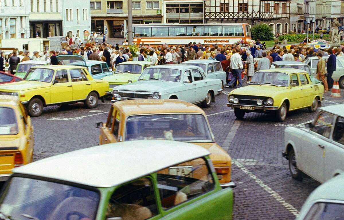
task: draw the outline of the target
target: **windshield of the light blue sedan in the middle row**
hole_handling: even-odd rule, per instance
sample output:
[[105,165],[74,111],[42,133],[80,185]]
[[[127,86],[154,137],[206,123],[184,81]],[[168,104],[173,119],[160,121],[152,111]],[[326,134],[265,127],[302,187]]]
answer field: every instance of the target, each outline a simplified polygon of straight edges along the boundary
[[182,71],[179,69],[167,69],[167,68],[146,68],[143,70],[139,80],[153,79],[170,82],[179,82]]

